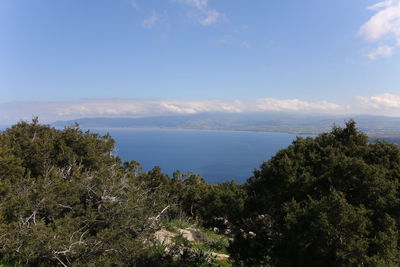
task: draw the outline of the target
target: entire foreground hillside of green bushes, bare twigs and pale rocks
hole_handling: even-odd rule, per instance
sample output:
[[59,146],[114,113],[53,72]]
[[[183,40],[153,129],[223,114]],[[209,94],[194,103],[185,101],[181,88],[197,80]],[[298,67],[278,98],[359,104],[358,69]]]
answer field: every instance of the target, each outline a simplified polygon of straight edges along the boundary
[[400,149],[353,121],[244,185],[144,172],[114,144],[37,119],[1,132],[0,266],[400,264]]

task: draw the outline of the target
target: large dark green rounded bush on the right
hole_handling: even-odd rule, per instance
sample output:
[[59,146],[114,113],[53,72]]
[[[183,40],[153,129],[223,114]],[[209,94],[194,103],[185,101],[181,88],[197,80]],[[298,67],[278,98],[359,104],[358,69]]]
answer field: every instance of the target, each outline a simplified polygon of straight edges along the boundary
[[246,266],[398,266],[400,148],[354,121],[297,138],[247,185],[230,250]]

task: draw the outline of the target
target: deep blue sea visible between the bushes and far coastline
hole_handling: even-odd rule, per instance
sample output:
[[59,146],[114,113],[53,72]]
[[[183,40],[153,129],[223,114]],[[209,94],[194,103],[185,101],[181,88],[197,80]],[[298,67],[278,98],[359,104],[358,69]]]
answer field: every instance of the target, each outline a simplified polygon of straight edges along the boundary
[[115,154],[138,161],[144,170],[160,166],[202,175],[208,183],[234,180],[244,183],[255,168],[296,138],[284,133],[165,130],[91,129],[109,132],[116,140]]

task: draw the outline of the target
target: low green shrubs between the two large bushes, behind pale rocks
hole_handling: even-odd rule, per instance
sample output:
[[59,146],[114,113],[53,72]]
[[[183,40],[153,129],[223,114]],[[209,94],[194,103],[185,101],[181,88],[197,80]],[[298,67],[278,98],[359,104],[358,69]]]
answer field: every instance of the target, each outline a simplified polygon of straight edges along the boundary
[[243,185],[235,182],[207,184],[203,177],[191,172],[176,171],[173,178],[169,178],[160,167],[154,167],[147,174],[139,174],[138,179],[168,196],[170,209],[166,215],[168,220],[178,219],[176,222],[186,219],[206,227],[221,226],[218,219],[229,222],[238,219],[246,198]]

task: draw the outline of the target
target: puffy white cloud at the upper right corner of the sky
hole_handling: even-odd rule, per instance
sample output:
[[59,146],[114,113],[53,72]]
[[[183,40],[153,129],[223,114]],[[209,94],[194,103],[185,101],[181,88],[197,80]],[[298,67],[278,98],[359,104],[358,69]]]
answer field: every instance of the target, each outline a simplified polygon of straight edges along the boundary
[[390,57],[400,45],[400,0],[384,0],[368,7],[375,14],[361,26],[359,34],[380,46],[367,54],[369,59]]

